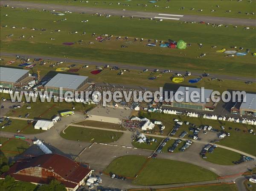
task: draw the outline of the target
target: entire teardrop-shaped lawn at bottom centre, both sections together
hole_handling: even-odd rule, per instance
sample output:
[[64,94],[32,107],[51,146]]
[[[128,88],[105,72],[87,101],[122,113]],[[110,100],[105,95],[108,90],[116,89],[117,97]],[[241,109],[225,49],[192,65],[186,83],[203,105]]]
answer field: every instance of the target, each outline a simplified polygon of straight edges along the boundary
[[111,162],[106,168],[106,172],[120,174],[125,177],[133,177],[138,174],[133,183],[139,185],[215,180],[217,177],[211,171],[186,162],[166,159],[149,159],[147,163],[145,161],[146,157],[136,155],[120,157]]

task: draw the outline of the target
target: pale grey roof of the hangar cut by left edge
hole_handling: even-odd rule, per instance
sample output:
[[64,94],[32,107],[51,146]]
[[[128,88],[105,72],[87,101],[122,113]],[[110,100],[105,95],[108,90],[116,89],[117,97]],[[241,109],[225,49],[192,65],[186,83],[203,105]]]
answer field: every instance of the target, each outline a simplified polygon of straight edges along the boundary
[[0,67],[0,81],[15,83],[29,70]]

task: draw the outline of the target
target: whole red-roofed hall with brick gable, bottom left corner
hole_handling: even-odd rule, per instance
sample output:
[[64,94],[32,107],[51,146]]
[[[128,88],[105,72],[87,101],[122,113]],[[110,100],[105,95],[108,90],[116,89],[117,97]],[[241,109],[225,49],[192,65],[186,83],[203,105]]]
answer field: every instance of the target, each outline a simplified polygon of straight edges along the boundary
[[18,160],[2,174],[1,178],[10,175],[15,180],[35,184],[49,184],[53,179],[64,184],[68,191],[75,191],[92,171],[67,157],[59,154],[43,154],[38,157]]

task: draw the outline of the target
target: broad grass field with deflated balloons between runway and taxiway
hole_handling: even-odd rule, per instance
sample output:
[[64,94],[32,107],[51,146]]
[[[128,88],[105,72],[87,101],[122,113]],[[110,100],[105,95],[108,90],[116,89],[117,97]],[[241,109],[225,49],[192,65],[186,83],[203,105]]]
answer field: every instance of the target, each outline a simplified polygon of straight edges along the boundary
[[[8,17],[4,17],[8,13]],[[217,49],[238,46],[256,51],[253,39],[253,30],[228,28],[213,28],[207,25],[178,23],[164,21],[155,23],[150,20],[121,19],[119,17],[96,17],[86,14],[68,14],[65,21],[58,21],[64,17],[36,10],[20,10],[1,8],[1,23],[8,27],[1,28],[1,51],[51,55],[55,57],[81,58],[111,63],[124,63],[143,66],[157,66],[161,68],[176,68],[183,71],[207,71],[209,73],[230,74],[254,77],[256,69],[253,66],[255,59],[251,54],[244,57],[224,57],[216,53]],[[84,24],[81,20],[88,19]],[[58,22],[53,22],[58,21]],[[11,26],[16,26],[12,29]],[[116,28],[116,26],[119,26]],[[20,29],[26,27],[25,29]],[[30,30],[30,28],[38,30]],[[40,31],[44,27],[46,31]],[[61,30],[55,32],[55,30]],[[86,30],[85,35],[81,35]],[[78,34],[69,34],[78,31]],[[148,32],[150,31],[150,33]],[[189,31],[189,33],[187,32]],[[103,43],[96,42],[91,34],[113,34],[115,36],[143,37],[144,39],[158,39],[168,41],[183,39],[192,46],[185,49],[150,48],[147,42],[128,44],[128,48],[120,49],[124,40],[110,40]],[[12,37],[6,35],[14,34]],[[25,38],[20,38],[25,34]],[[30,38],[33,35],[34,38]],[[55,38],[55,40],[50,40]],[[114,37],[113,37],[114,38]],[[64,40],[65,39],[65,40]],[[78,43],[79,40],[83,42]],[[76,42],[73,46],[64,46],[64,42]],[[89,44],[94,42],[94,44]],[[202,43],[203,48],[198,48],[197,43]],[[211,48],[216,45],[218,48]],[[26,49],[23,48],[26,46]],[[196,58],[206,53],[203,58]],[[100,56],[99,56],[100,55]]]

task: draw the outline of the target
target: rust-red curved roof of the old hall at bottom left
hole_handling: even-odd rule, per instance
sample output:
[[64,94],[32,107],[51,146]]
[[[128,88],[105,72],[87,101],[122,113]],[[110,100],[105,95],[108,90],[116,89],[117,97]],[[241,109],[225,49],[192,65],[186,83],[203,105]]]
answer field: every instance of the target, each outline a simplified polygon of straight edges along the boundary
[[[52,179],[50,172],[48,176],[49,179],[19,174],[19,171],[24,169],[26,169],[27,172],[32,171],[31,168],[45,168],[52,172],[52,174],[58,174],[63,178],[61,182],[68,188],[74,188],[91,171],[91,169],[85,168],[70,158],[61,156],[59,154],[43,154],[38,157],[16,161],[15,164],[10,167],[9,171],[2,174],[1,177],[5,177],[9,174],[12,177],[15,177],[15,180],[37,183],[49,183],[49,181]],[[76,182],[76,184],[74,182]]]

